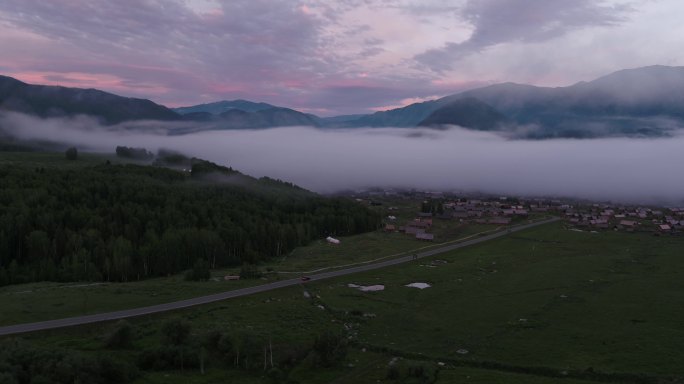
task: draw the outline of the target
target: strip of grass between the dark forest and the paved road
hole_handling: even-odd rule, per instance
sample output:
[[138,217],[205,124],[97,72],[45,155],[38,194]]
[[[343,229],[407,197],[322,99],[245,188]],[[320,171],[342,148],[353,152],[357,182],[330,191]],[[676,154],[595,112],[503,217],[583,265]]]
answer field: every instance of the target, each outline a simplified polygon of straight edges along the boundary
[[[481,229],[464,227],[462,236]],[[426,246],[398,233],[372,232],[342,240],[338,246],[319,241],[298,248],[284,259],[260,266],[262,271],[273,273],[257,280],[223,281],[225,275],[239,274],[239,268],[232,268],[213,271],[215,280],[200,282],[185,281],[181,274],[128,283],[43,282],[0,287],[0,326],[183,300],[288,279],[312,269],[405,254]],[[293,273],[275,273],[278,271]]]

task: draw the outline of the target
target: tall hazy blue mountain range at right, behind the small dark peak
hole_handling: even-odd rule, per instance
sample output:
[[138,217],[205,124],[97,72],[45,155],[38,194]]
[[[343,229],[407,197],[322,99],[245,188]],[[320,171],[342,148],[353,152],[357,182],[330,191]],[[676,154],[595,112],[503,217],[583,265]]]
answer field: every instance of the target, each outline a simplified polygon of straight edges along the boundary
[[[526,135],[531,137],[658,136],[667,134],[673,126],[684,126],[684,67],[627,69],[591,82],[557,88],[496,84],[376,112],[346,124],[417,126],[440,108],[465,98],[489,105],[510,122],[524,127]],[[479,108],[472,112],[464,108],[452,109],[452,112],[459,115],[482,112]],[[463,118],[448,117],[447,111],[440,112],[440,119]]]

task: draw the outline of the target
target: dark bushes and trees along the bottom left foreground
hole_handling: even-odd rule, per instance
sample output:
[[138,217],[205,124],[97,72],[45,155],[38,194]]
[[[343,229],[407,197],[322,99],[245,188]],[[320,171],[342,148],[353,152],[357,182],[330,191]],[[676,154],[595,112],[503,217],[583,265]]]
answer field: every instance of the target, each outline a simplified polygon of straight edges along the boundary
[[[164,320],[141,348],[141,330],[126,320],[109,327],[96,349],[41,346],[21,339],[0,341],[3,384],[121,384],[155,371],[205,374],[208,369],[241,370],[273,383],[292,382],[289,372],[302,363],[330,368],[346,358],[347,340],[325,331],[313,340],[282,342],[249,330],[201,330],[181,318]],[[99,344],[99,345],[98,345]],[[125,353],[111,353],[118,350]]]

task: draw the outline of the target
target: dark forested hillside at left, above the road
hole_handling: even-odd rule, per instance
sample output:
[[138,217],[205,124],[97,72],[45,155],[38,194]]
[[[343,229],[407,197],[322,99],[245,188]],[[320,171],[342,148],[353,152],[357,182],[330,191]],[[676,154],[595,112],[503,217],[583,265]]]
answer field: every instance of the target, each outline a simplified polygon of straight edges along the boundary
[[365,207],[199,162],[0,166],[0,285],[130,281],[257,263],[328,235],[373,230]]

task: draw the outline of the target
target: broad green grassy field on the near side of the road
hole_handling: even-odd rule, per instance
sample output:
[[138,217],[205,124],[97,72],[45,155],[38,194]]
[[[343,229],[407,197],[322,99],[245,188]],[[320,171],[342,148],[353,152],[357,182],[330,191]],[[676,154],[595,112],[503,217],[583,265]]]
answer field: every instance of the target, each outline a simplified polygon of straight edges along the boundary
[[[396,382],[386,379],[396,358],[437,370],[437,383],[681,379],[683,245],[680,237],[574,232],[556,223],[436,258],[446,264],[419,260],[133,319],[141,335],[135,350],[154,343],[160,320],[181,316],[197,332],[248,329],[278,343],[306,342],[325,329],[348,334],[353,348],[344,364],[325,370],[302,363],[290,373],[295,382]],[[412,282],[432,287],[404,286]],[[360,292],[349,283],[384,284],[385,290]],[[92,351],[101,348],[108,327],[27,337]],[[219,378],[243,374],[209,372],[154,373],[138,382],[230,382]],[[259,373],[250,377],[244,382],[268,382]]]

